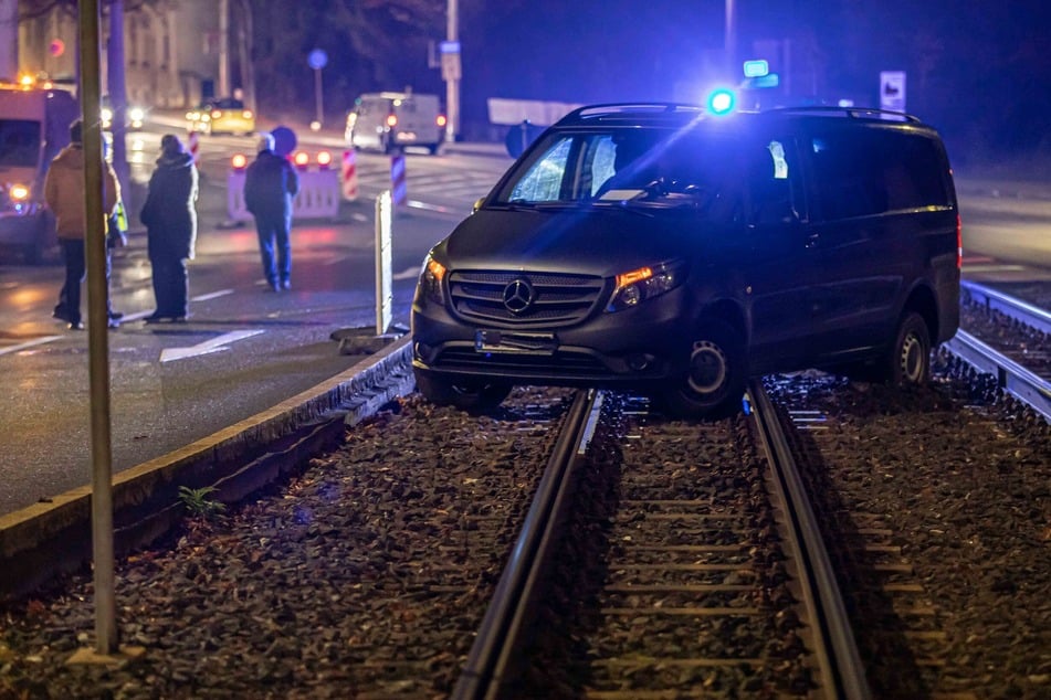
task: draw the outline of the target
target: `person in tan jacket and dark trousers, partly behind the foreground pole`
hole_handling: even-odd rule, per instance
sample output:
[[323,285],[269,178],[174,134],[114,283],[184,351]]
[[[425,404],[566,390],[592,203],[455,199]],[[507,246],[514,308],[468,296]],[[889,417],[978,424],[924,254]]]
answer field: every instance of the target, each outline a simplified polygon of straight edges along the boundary
[[[53,316],[69,324],[71,330],[84,330],[81,320],[81,284],[87,273],[85,237],[87,212],[84,203],[84,125],[77,119],[70,125],[70,145],[59,151],[44,177],[44,200],[55,215],[55,233],[62,246],[65,261],[65,282],[59,293],[59,304]],[[120,185],[113,167],[103,161],[103,229],[120,199]],[[106,245],[105,237],[99,241]],[[108,255],[108,253],[107,253]],[[106,276],[106,297],[108,305],[108,283]],[[116,328],[119,321],[109,311],[109,327]]]

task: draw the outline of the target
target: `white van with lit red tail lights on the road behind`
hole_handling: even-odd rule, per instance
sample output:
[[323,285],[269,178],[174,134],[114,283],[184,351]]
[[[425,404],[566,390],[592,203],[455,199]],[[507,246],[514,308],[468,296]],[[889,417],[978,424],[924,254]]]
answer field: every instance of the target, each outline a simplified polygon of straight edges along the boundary
[[347,144],[361,150],[393,153],[421,146],[437,153],[444,131],[438,95],[366,93],[347,114]]

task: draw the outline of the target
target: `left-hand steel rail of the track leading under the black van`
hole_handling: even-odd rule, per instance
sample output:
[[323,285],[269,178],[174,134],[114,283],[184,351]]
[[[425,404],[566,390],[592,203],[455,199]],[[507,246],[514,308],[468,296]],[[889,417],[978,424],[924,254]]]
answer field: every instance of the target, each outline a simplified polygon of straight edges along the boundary
[[545,562],[558,544],[558,526],[571,501],[574,466],[587,449],[602,406],[601,392],[579,391],[548,459],[477,637],[450,696],[496,699],[512,692],[517,651],[527,632]]

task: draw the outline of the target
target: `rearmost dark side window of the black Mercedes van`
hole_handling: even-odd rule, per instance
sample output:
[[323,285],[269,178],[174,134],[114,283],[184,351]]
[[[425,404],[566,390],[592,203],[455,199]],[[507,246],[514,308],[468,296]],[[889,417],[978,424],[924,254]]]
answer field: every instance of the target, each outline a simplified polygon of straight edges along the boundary
[[810,139],[818,218],[870,216],[949,204],[933,141],[901,131]]

